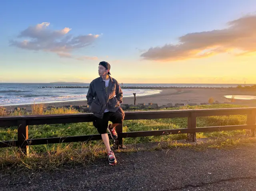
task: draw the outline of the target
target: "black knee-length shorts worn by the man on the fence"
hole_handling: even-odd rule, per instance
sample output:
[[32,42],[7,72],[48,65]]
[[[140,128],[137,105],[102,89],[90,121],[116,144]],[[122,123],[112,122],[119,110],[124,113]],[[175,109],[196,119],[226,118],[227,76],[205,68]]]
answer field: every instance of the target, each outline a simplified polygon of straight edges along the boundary
[[106,112],[104,113],[103,118],[95,118],[93,121],[94,127],[97,128],[99,134],[106,134],[108,129],[108,121],[111,121],[113,124],[121,124],[124,120],[124,114],[121,108],[116,112]]

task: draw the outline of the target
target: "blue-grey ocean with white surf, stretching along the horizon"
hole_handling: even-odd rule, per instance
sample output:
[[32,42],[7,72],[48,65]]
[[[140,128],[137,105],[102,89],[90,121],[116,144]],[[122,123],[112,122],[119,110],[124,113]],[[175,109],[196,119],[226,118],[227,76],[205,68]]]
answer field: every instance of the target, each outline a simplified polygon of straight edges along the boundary
[[[236,87],[239,84],[123,84],[128,87]],[[243,85],[243,84],[240,84]],[[0,83],[0,106],[86,100],[88,89],[39,88],[43,86],[89,86],[88,83]],[[158,94],[161,90],[123,89],[124,97]]]

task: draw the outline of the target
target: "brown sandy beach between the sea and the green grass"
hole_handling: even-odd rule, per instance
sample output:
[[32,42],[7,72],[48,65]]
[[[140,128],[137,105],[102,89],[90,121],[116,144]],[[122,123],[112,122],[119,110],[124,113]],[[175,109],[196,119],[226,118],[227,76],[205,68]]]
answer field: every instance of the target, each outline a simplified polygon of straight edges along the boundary
[[[255,92],[244,92],[244,91],[231,91],[225,89],[163,89],[160,94],[148,95],[148,96],[137,96],[136,103],[148,102],[157,103],[158,105],[172,103],[184,103],[184,104],[200,104],[201,102],[208,102],[210,97],[218,102],[230,102],[230,99],[225,98],[225,95],[253,95]],[[124,95],[125,96],[125,95]],[[124,97],[124,104],[133,104],[134,97]],[[68,101],[68,102],[54,102],[54,103],[44,103],[45,106],[64,106],[64,105],[86,105],[86,100],[84,101]],[[256,100],[236,100],[232,104],[243,104],[248,106],[256,106]],[[15,106],[4,106],[8,111],[14,110],[15,107],[26,107],[27,110],[31,110],[31,105],[15,105]]]

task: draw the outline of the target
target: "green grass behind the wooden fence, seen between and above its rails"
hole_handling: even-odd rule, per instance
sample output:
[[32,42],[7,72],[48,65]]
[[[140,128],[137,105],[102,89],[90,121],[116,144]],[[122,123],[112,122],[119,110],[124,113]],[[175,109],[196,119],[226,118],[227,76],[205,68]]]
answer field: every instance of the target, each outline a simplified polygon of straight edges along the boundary
[[[234,107],[244,107],[233,104],[213,104],[213,105],[200,105],[200,106],[182,106],[180,108],[168,108],[166,110],[172,109],[205,109],[205,108],[234,108]],[[35,112],[41,112],[38,107]],[[162,109],[165,110],[165,109]],[[66,110],[50,110],[49,112],[58,113],[74,113],[72,109]],[[225,125],[240,125],[246,124],[246,115],[230,115],[230,116],[208,116],[208,117],[198,117],[197,127],[205,126],[225,126]],[[123,124],[124,132],[134,132],[134,131],[151,131],[151,130],[166,130],[166,129],[178,129],[187,128],[187,118],[168,118],[168,119],[151,119],[151,120],[125,120]],[[72,124],[50,124],[50,125],[34,125],[29,126],[29,138],[50,138],[50,137],[63,137],[63,136],[78,136],[78,135],[90,135],[98,134],[96,128],[94,128],[92,122],[84,123],[72,123]],[[207,138],[207,137],[218,137],[220,135],[234,136],[237,134],[246,134],[246,130],[234,130],[234,131],[223,131],[223,132],[206,132],[197,133],[197,138]],[[145,143],[145,142],[160,142],[160,141],[172,141],[186,139],[186,134],[175,134],[175,135],[165,135],[165,136],[148,136],[148,137],[138,137],[138,138],[125,138],[124,144],[134,144],[134,143]],[[17,140],[17,127],[10,128],[0,128],[0,140]],[[91,144],[96,144],[97,141],[91,142]],[[79,146],[79,143],[73,144],[75,147]],[[52,150],[56,148],[55,144],[48,144],[46,146],[30,146],[34,149],[34,152],[45,152],[46,150]],[[0,155],[1,151],[0,149]]]

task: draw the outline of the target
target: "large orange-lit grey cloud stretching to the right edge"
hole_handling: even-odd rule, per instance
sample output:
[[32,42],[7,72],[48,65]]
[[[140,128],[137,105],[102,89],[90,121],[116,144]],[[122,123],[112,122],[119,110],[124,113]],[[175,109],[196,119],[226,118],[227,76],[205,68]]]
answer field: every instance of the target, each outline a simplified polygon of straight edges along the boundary
[[140,57],[154,61],[177,61],[210,57],[220,53],[249,55],[256,52],[256,15],[245,16],[227,23],[227,28],[188,33],[179,37],[178,44],[151,47]]

